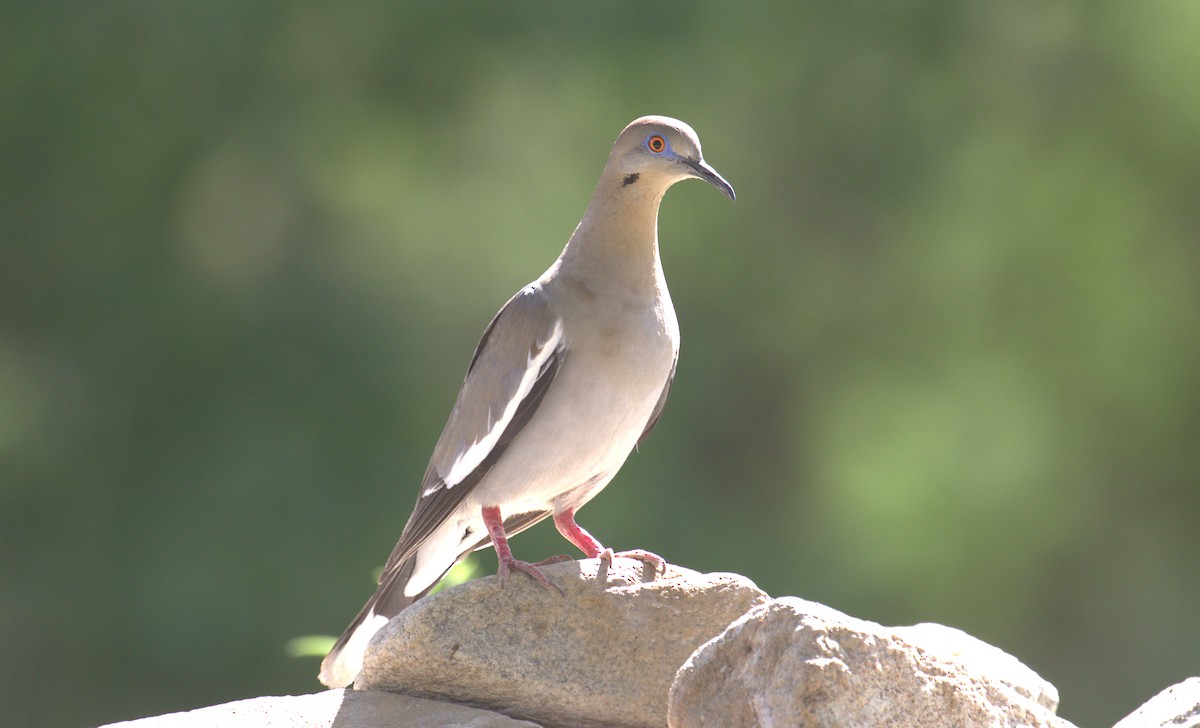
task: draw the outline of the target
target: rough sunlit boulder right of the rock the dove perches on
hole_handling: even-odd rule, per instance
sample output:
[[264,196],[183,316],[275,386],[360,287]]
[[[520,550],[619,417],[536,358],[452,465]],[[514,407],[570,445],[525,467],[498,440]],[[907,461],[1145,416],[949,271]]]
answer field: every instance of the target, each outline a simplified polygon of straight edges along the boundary
[[785,597],[704,644],[671,688],[671,728],[1064,728],[1057,692],[1001,650],[938,625],[889,628]]

